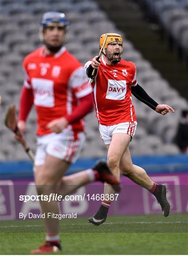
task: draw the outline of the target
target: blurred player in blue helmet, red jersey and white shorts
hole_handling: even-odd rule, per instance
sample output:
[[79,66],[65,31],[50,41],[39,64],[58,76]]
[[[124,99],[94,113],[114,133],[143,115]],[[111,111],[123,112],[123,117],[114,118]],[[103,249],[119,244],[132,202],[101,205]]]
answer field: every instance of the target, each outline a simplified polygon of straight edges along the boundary
[[[85,140],[83,117],[93,108],[93,89],[84,67],[64,46],[67,28],[68,20],[63,13],[45,13],[40,27],[44,46],[27,55],[23,63],[25,81],[17,126],[23,134],[34,104],[38,125],[34,159],[36,189],[38,195],[57,193],[64,197],[86,183],[100,180],[115,184],[119,191],[119,182],[103,161],[92,169],[63,177],[78,158]],[[59,213],[58,201],[41,198],[40,204],[45,214],[46,242],[31,253],[59,251],[59,220],[53,218]]]

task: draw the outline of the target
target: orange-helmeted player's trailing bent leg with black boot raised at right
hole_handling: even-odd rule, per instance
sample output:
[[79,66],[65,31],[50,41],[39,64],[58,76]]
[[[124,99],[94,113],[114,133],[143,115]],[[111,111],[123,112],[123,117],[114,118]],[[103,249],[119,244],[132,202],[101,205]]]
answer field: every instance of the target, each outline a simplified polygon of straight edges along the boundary
[[154,181],[152,181],[152,179],[146,174],[143,168],[137,165],[133,165],[128,148],[121,158],[120,172],[121,174],[131,179],[133,182],[154,194],[157,201],[161,205],[163,215],[165,217],[169,215],[170,203],[166,198],[166,186],[163,184],[155,184]]

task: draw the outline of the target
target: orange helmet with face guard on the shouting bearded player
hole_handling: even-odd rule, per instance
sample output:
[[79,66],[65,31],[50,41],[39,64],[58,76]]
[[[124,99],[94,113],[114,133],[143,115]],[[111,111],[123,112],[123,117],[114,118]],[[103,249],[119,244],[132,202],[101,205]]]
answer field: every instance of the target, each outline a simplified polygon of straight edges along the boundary
[[[104,37],[105,37],[105,34],[103,34],[100,38],[100,49],[103,45]],[[111,44],[112,46],[114,44],[123,46],[123,39],[122,39],[121,35],[115,34],[115,33],[108,33],[108,37],[107,37],[106,43],[104,45],[104,50],[107,49],[109,44]],[[115,55],[116,55],[115,50],[113,50],[112,53],[108,53],[108,54],[106,54],[104,50],[103,50],[103,55],[105,55],[112,64],[116,64],[116,63],[120,62],[121,55],[122,55],[123,51],[118,53],[119,54],[118,58],[115,58]]]

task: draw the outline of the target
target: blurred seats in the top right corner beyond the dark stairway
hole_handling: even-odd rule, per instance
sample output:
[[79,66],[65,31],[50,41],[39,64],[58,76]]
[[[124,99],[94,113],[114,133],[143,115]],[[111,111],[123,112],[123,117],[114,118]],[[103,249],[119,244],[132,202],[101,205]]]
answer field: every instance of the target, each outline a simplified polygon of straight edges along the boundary
[[[175,52],[181,49],[181,57],[188,62],[188,1],[143,0],[150,15],[155,15],[163,29],[164,38],[173,44]],[[186,57],[187,56],[187,57]]]

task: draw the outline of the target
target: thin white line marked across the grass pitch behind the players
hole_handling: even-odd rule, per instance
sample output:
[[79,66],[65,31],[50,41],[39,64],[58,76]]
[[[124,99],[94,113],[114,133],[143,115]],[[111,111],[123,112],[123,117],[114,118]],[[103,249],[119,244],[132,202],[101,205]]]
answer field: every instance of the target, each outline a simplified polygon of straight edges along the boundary
[[[64,226],[74,226],[74,225],[79,225],[79,226],[84,226],[88,225],[89,223],[70,223],[70,224],[63,224]],[[156,222],[148,222],[148,221],[137,221],[137,222],[110,222],[110,223],[103,223],[104,225],[111,225],[111,224],[188,224],[188,221],[156,221]],[[10,226],[1,226],[1,228],[30,228],[30,227],[44,227],[43,225],[10,225]]]

